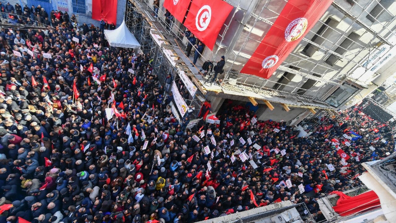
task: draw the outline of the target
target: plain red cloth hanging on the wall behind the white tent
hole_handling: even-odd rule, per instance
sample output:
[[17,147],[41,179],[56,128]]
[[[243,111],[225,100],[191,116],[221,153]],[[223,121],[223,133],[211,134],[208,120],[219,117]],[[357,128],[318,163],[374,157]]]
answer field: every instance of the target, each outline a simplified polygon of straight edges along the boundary
[[95,0],[92,4],[92,19],[105,20],[109,24],[117,21],[117,0]]

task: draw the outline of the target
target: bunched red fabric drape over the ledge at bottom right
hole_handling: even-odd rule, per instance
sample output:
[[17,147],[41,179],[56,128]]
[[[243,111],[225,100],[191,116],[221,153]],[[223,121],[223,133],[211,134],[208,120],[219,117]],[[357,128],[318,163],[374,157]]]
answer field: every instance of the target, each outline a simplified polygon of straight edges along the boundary
[[330,194],[337,194],[340,198],[333,210],[341,216],[348,216],[361,211],[368,211],[380,205],[379,198],[373,190],[350,197],[340,191],[333,191]]

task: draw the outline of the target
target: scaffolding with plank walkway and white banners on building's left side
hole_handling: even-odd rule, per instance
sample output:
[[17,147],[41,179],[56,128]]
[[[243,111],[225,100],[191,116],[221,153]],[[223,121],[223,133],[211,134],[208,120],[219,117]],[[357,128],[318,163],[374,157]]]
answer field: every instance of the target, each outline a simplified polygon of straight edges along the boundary
[[[185,62],[180,60],[180,56],[174,50],[171,42],[164,37],[164,33],[166,32],[157,26],[147,10],[146,12],[143,10],[137,2],[128,0],[126,2],[125,12],[126,25],[141,44],[143,53],[152,56],[152,72],[158,75],[158,79],[162,85],[165,84],[166,77],[170,74],[173,80],[175,80],[179,91],[185,92],[187,88],[180,80],[180,71],[184,71],[190,77],[190,80],[195,83],[198,90],[194,95],[183,94],[183,98],[188,106],[193,106],[194,108],[194,112],[190,117],[195,118],[203,102],[206,100],[206,91],[202,89],[198,81],[194,80],[194,74],[186,69],[187,65]],[[166,50],[171,52],[170,56],[165,53]],[[173,58],[176,60],[173,60]],[[172,106],[172,110],[180,121],[183,117],[180,117],[174,106]]]

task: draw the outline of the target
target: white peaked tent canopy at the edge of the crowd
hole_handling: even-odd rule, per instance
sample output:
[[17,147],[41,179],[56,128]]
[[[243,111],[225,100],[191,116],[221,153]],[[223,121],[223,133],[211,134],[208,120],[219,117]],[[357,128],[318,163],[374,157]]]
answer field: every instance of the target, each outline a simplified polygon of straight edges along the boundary
[[105,37],[110,46],[122,48],[139,48],[141,45],[135,36],[128,30],[125,20],[122,21],[120,27],[114,30],[105,30]]

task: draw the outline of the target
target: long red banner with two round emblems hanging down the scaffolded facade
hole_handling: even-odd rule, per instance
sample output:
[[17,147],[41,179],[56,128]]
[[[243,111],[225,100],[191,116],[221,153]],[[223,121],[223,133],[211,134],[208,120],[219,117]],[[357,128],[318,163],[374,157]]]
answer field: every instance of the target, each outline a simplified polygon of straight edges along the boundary
[[289,0],[240,72],[270,78],[332,2]]

